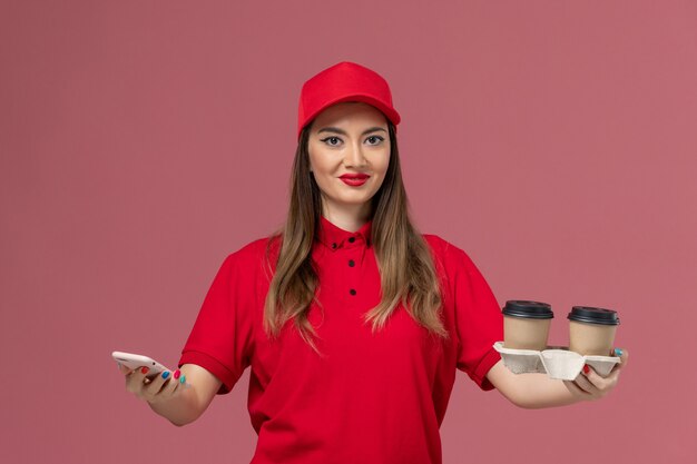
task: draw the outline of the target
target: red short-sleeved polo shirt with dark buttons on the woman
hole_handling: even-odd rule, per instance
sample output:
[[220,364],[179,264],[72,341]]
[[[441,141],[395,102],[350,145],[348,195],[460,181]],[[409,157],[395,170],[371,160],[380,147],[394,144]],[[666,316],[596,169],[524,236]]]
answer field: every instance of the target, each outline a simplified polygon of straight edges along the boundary
[[258,434],[253,464],[441,463],[439,427],[455,369],[493,388],[485,375],[500,359],[492,348],[503,336],[499,305],[465,253],[442,238],[423,236],[450,339],[429,334],[402,306],[374,335],[363,323],[381,289],[371,225],[350,233],[322,218],[312,254],[324,312],[313,303],[310,322],[323,356],[292,322],[277,339],[264,333],[268,238],[229,255],[215,276],[179,366],[208,369],[223,382],[220,394],[251,366],[247,406]]

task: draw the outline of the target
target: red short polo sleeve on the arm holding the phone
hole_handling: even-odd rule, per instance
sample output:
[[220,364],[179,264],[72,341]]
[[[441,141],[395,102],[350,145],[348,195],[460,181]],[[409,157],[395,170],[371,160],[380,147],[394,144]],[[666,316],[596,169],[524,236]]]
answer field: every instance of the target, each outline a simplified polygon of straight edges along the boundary
[[256,304],[249,255],[247,246],[223,261],[178,364],[196,364],[215,375],[223,382],[218,394],[229,393],[249,365]]

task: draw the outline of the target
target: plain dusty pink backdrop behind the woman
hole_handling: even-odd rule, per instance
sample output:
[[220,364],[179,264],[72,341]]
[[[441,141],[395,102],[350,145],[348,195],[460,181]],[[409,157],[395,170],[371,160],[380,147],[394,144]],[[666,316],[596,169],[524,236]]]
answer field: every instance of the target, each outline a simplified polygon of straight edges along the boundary
[[[227,254],[283,220],[300,87],[374,68],[418,226],[499,302],[616,308],[608,397],[524,411],[463,373],[444,462],[697,458],[697,3],[3,2],[0,450],[8,463],[252,457],[248,373],[177,428],[114,349],[170,366]],[[438,6],[436,6],[438,4]]]

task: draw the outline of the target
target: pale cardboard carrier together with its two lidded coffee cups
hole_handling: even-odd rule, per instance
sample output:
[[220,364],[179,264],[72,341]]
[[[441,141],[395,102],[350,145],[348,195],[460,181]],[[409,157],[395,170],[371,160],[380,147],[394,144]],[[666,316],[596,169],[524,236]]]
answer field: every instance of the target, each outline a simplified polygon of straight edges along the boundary
[[502,313],[504,340],[493,347],[513,374],[541,373],[550,378],[572,381],[585,364],[606,376],[619,363],[619,357],[608,355],[619,325],[617,313],[611,309],[575,306],[568,316],[569,348],[547,346],[553,317],[550,305],[511,300]]

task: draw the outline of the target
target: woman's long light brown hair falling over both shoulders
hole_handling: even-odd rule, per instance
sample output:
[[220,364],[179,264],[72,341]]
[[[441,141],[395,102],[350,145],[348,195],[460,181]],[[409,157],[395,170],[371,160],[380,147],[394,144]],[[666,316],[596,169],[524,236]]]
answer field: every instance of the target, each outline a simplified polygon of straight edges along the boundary
[[[276,270],[264,306],[264,329],[276,337],[288,319],[293,319],[303,339],[313,349],[316,333],[307,315],[315,297],[318,277],[312,259],[313,241],[317,236],[322,214],[320,187],[310,171],[307,142],[310,127],[303,129],[293,171],[291,201],[285,225],[271,236],[266,248],[281,241]],[[429,245],[409,217],[409,201],[402,181],[394,125],[387,120],[390,164],[382,186],[372,201],[373,224],[370,241],[380,269],[382,299],[364,316],[372,322],[373,333],[384,327],[387,318],[403,304],[410,316],[430,333],[448,337],[440,319],[441,293]]]

